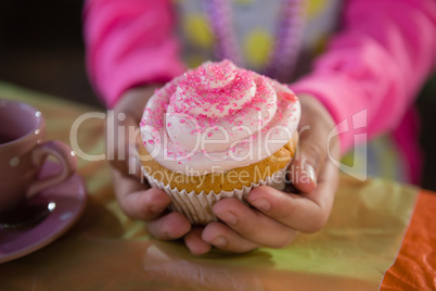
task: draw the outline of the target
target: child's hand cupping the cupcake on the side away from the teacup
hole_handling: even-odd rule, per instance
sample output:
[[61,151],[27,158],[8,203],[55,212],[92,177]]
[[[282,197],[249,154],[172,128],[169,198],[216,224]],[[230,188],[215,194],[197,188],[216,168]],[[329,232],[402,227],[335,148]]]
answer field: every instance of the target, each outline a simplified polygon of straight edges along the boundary
[[[294,186],[303,193],[285,193],[261,186],[248,193],[251,208],[236,199],[223,199],[214,206],[222,220],[194,229],[185,237],[192,253],[208,251],[204,242],[230,252],[258,246],[282,248],[297,231],[316,232],[329,218],[337,188],[338,169],[328,156],[328,136],[335,124],[315,98],[300,97],[302,121],[298,152],[290,170]],[[338,139],[330,140],[330,153],[338,160]],[[309,176],[310,179],[307,179]]]

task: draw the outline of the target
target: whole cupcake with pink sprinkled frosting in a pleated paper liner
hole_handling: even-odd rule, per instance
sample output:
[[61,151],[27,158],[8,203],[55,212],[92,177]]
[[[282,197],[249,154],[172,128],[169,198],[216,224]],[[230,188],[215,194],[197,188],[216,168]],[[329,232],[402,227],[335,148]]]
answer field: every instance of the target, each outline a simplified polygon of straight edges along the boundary
[[193,224],[222,198],[284,189],[300,106],[291,89],[232,62],[206,62],[155,91],[140,123],[142,173]]

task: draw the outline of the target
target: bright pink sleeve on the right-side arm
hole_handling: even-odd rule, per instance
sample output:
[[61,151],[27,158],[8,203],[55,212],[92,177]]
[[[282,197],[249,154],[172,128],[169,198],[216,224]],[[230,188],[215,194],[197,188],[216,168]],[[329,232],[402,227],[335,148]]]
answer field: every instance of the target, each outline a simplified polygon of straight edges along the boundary
[[[367,125],[371,138],[401,122],[435,67],[436,2],[349,0],[344,16],[343,29],[312,73],[291,88],[316,96],[336,124]],[[339,137],[345,152],[354,132]]]

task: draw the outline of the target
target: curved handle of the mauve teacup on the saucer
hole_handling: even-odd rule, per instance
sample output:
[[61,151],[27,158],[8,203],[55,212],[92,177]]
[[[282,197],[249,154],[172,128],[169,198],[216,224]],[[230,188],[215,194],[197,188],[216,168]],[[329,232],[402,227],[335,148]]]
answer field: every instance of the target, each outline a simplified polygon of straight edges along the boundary
[[28,198],[40,192],[42,189],[66,180],[77,168],[76,155],[73,150],[62,141],[50,140],[35,147],[31,159],[38,170],[42,167],[48,155],[53,155],[61,164],[62,169],[47,178],[35,181],[27,191],[26,195]]

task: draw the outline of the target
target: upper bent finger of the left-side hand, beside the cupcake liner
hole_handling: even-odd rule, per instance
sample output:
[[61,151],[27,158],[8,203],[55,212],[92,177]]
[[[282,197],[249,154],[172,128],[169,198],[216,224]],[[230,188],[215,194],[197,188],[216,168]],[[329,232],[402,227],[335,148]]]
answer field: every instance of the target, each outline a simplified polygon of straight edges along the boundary
[[134,219],[151,220],[168,207],[170,198],[163,190],[141,184],[112,168],[115,195],[123,211]]

